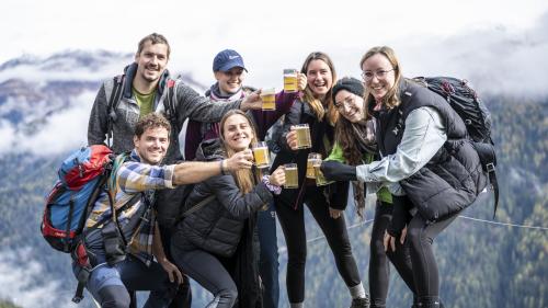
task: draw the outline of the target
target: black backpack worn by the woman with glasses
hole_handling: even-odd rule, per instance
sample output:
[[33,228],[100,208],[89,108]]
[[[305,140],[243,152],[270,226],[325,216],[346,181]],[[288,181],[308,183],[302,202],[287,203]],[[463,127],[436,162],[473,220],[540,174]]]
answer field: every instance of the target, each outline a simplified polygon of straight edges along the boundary
[[416,77],[413,80],[443,96],[463,118],[483,171],[491,182],[494,193],[494,219],[499,206],[499,184],[495,173],[496,153],[491,139],[491,113],[466,80],[454,77]]

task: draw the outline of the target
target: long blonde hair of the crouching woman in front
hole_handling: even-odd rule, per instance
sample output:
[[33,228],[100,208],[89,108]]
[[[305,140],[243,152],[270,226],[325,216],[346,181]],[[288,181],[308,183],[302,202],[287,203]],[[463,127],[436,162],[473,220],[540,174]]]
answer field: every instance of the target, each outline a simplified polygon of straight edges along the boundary
[[[256,129],[255,129],[255,126],[253,125],[253,121],[251,121],[251,118],[244,112],[242,112],[240,110],[231,110],[231,111],[227,112],[222,116],[222,118],[220,119],[219,138],[222,141],[222,149],[225,150],[225,153],[228,158],[232,157],[236,153],[236,151],[230,149],[227,146],[227,141],[225,140],[225,122],[227,122],[227,119],[233,115],[241,115],[248,121],[249,127],[251,127],[251,132],[253,132],[250,147],[256,146],[256,142],[258,142]],[[253,172],[249,169],[240,169],[236,172],[232,172],[232,176],[236,180],[236,184],[238,185],[238,189],[240,189],[240,192],[242,192],[243,194],[251,192],[251,190],[253,190],[253,187],[255,185],[255,182],[259,182],[259,178],[258,178],[259,172],[256,173],[255,179],[253,179]]]

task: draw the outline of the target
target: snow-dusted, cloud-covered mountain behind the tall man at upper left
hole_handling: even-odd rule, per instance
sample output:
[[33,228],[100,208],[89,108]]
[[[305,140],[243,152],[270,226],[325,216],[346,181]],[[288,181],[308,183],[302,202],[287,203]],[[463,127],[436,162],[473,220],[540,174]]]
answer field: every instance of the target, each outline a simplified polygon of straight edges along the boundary
[[[132,54],[69,50],[47,58],[24,55],[0,65],[0,153],[49,156],[85,145],[101,82],[132,61]],[[191,77],[182,78],[203,90]]]

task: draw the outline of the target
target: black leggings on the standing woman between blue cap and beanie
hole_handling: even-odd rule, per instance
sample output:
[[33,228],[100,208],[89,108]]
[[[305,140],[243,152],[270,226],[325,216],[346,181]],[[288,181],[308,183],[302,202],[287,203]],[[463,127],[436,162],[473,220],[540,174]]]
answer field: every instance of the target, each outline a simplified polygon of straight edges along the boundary
[[[328,240],[336,269],[344,283],[349,287],[358,285],[361,283],[359,273],[352,254],[344,216],[338,219],[329,216],[329,205],[322,189],[307,186],[304,199]],[[302,303],[305,300],[305,264],[307,259],[304,206],[294,209],[293,204],[281,198],[276,198],[275,202],[279,225],[287,244],[287,297],[289,303]]]

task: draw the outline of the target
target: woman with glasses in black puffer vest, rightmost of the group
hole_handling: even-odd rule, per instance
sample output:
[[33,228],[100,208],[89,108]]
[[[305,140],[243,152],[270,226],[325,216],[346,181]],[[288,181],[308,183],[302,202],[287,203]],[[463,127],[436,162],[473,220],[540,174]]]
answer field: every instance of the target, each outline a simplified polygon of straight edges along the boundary
[[[391,48],[369,49],[361,67],[366,111],[377,122],[383,159],[357,168],[324,161],[321,170],[331,180],[357,179],[368,191],[388,185],[392,194],[409,198],[395,203],[385,247],[409,247],[414,307],[437,308],[439,277],[432,243],[476,199],[486,176],[463,119],[442,96],[404,79]],[[412,207],[416,214],[411,217]]]

